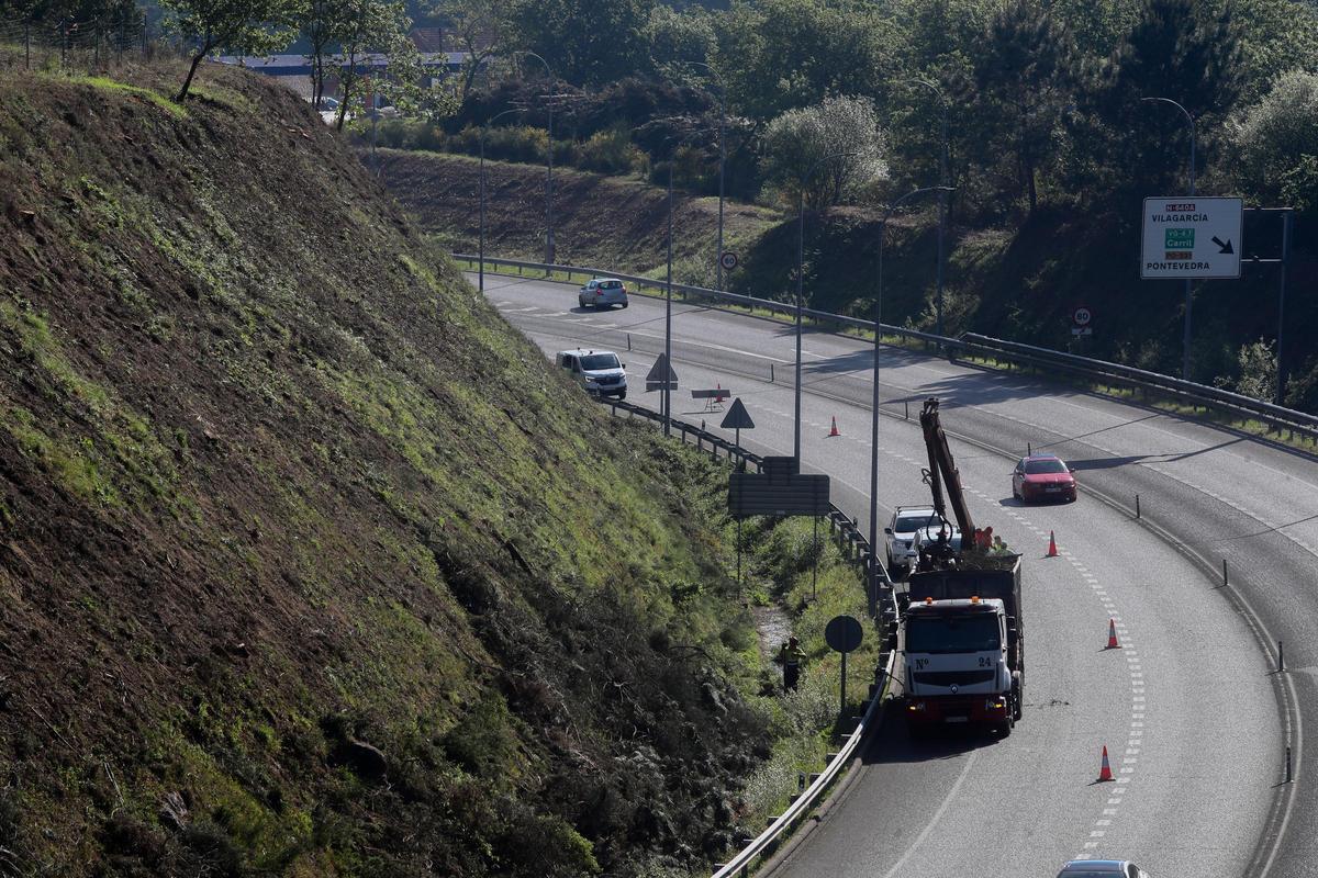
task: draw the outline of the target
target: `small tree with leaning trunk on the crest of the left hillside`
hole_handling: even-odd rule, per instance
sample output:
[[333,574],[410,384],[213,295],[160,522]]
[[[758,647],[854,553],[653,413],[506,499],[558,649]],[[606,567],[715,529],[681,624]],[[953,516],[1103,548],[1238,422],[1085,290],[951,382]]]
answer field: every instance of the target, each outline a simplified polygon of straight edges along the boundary
[[179,34],[196,45],[183,87],[174,99],[187,100],[196,67],[212,50],[224,47],[265,55],[293,41],[301,0],[161,0],[173,12]]

